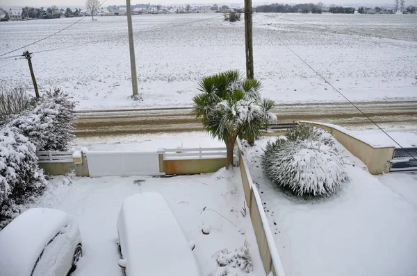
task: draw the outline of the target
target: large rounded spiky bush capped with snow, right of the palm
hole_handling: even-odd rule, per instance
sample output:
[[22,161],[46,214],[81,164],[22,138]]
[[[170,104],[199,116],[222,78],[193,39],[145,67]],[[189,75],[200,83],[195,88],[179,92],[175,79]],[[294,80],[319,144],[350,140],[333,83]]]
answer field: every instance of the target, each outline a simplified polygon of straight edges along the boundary
[[343,157],[332,145],[321,139],[277,139],[265,148],[263,172],[297,196],[329,195],[348,180]]

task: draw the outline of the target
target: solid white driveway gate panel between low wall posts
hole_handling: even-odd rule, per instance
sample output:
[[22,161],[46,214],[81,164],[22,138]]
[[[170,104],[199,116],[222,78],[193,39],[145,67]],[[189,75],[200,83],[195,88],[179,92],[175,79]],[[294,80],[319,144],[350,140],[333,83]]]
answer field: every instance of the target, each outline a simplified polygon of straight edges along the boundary
[[91,177],[164,175],[159,171],[158,153],[88,151],[88,171]]

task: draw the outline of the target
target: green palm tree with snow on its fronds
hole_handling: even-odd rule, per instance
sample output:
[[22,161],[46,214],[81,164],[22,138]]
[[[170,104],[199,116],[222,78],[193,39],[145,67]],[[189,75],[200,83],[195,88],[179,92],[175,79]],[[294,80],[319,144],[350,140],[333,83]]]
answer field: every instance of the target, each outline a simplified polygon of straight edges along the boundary
[[193,98],[194,113],[212,137],[226,144],[227,168],[233,165],[236,138],[261,135],[261,130],[275,117],[273,101],[262,99],[258,80],[242,79],[239,71],[226,71],[203,78]]

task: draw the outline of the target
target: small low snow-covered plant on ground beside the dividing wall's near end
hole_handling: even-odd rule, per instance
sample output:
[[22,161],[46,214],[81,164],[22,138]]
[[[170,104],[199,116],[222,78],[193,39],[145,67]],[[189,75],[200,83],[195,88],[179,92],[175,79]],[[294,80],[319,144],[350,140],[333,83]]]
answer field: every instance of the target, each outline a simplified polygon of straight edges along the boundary
[[250,256],[249,248],[247,248],[247,241],[240,248],[234,250],[224,249],[218,252],[216,261],[219,266],[231,266],[240,268],[247,273],[254,270],[252,257]]

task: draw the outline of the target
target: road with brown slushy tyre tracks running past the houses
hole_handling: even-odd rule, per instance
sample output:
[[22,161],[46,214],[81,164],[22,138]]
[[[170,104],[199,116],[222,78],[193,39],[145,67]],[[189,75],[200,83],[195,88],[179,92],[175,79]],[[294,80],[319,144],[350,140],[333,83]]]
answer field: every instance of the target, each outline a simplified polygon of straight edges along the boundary
[[[417,126],[417,101],[355,103],[377,123]],[[274,110],[279,122],[325,121],[341,126],[370,124],[350,103],[283,103]],[[169,109],[94,110],[78,112],[76,135],[101,136],[203,130],[190,107]]]

